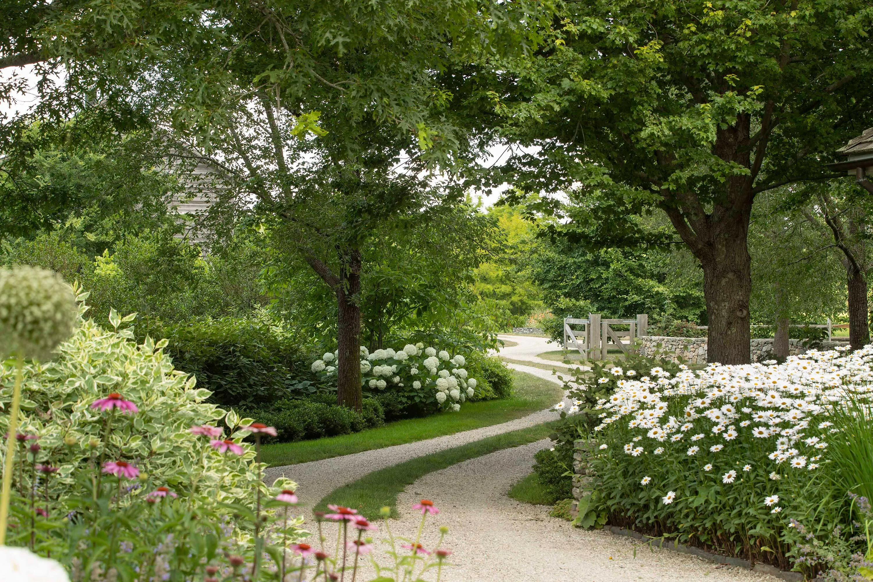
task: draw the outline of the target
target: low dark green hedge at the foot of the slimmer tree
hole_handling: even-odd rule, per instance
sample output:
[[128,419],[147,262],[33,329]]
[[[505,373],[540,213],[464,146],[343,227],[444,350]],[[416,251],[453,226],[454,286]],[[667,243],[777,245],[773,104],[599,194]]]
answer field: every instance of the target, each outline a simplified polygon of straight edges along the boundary
[[363,413],[358,414],[350,408],[317,400],[286,399],[265,407],[238,407],[237,413],[276,428],[278,436],[266,437],[265,442],[291,442],[349,435],[383,424],[379,402],[365,398],[363,408]]

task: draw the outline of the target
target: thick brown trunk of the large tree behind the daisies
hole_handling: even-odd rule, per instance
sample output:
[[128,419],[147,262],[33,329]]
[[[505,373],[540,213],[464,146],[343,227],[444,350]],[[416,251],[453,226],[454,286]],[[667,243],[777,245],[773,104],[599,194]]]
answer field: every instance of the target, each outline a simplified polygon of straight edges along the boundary
[[[709,316],[706,360],[720,364],[751,361],[749,299],[752,294],[752,258],[746,248],[746,229],[733,236],[718,236],[711,253],[701,258],[704,296]],[[740,236],[741,234],[741,236]]]

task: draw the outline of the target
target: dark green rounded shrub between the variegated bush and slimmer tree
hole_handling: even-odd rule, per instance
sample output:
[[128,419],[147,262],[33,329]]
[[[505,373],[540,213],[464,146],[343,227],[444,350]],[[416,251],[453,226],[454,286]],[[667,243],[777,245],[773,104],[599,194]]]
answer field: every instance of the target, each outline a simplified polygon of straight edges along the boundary
[[167,353],[176,368],[196,374],[198,385],[211,390],[211,400],[218,404],[300,398],[317,389],[304,380],[311,374],[297,346],[253,319],[148,321],[137,332],[169,339]]

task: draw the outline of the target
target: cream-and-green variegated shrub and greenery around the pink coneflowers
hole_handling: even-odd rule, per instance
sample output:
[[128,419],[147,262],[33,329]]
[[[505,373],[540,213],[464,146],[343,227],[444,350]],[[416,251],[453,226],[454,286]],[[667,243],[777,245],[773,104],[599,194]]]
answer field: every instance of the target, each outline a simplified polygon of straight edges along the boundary
[[[120,325],[120,318],[113,325]],[[206,403],[210,391],[173,368],[163,353],[166,340],[138,345],[133,338],[128,330],[107,332],[79,318],[56,359],[24,366],[17,431],[23,442],[17,455],[21,470],[11,512],[17,527],[10,529],[9,543],[31,544],[32,539],[31,547],[84,579],[110,567],[119,579],[137,578],[134,568],[160,578],[170,560],[175,574],[189,579],[225,551],[251,556],[254,520],[243,516],[254,512],[256,484],[271,495],[260,482],[255,451],[241,445],[240,455],[222,454],[210,447],[208,437],[190,430],[222,419],[231,429],[250,421]],[[0,432],[10,423],[5,411],[14,373],[4,362]],[[101,411],[98,401],[106,407],[124,401],[127,409]],[[236,447],[241,433],[223,438]],[[101,472],[109,468],[107,462],[128,463],[131,478]],[[148,493],[160,493],[159,487],[178,498],[150,503],[161,499]],[[36,507],[29,493],[35,488]],[[37,516],[38,510],[43,513]],[[298,519],[289,522],[290,538],[299,538],[299,524]]]

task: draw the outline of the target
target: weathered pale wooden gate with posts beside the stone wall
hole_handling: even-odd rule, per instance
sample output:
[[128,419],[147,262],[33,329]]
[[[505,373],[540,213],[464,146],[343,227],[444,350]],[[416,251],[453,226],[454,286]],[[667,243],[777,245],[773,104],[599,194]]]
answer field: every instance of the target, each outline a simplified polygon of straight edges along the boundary
[[[584,330],[574,330],[571,325],[583,325]],[[629,329],[614,330],[613,325],[628,325]],[[587,319],[564,318],[564,349],[572,347],[585,359],[606,359],[608,342],[612,339],[622,353],[629,353],[634,339],[648,335],[648,327],[646,313],[638,313],[636,319],[601,319],[600,313],[588,313]],[[627,344],[622,341],[624,338],[628,338]]]

